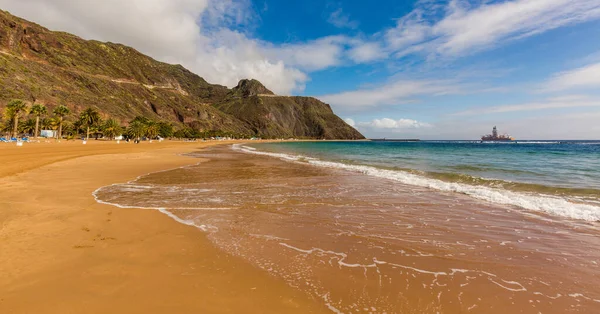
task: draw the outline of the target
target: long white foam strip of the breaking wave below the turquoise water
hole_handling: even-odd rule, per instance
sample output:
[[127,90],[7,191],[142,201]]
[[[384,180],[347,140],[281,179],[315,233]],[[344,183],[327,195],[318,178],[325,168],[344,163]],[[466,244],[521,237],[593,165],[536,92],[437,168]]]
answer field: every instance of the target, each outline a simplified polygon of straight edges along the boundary
[[276,157],[285,161],[304,161],[305,163],[323,168],[334,168],[353,172],[360,172],[365,175],[394,180],[403,184],[426,187],[444,192],[466,194],[471,197],[492,203],[518,206],[528,210],[545,212],[561,217],[582,219],[587,221],[600,221],[600,207],[593,206],[590,204],[572,203],[567,199],[556,196],[528,194],[486,186],[475,186],[464,183],[446,182],[400,170],[379,169],[376,167],[364,165],[349,165],[339,162],[308,158],[306,156],[301,155],[290,155],[284,153],[270,153],[258,150],[249,150],[241,145],[233,145],[233,149],[251,154]]

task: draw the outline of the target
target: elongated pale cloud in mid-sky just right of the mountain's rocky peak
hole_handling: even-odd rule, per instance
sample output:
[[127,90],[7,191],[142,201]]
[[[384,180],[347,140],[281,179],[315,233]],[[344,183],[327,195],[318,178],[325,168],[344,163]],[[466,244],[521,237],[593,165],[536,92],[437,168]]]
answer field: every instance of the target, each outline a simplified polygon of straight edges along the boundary
[[320,96],[339,110],[358,111],[381,105],[398,105],[413,102],[411,97],[418,95],[445,95],[462,92],[459,84],[440,80],[398,80],[381,87],[359,89]]

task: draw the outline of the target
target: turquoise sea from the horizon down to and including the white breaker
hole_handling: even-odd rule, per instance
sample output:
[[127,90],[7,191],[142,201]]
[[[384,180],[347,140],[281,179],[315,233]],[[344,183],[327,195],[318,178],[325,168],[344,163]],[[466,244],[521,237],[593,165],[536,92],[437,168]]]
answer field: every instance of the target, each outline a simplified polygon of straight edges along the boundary
[[[286,159],[468,194],[562,216],[600,219],[600,141],[249,144]],[[539,197],[539,198],[536,198]]]

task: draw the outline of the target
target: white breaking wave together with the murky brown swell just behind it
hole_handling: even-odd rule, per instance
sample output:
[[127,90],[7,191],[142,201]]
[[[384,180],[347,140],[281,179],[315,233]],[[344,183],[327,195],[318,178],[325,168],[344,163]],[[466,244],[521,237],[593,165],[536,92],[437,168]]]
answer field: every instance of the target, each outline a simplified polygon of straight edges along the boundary
[[[399,184],[414,187],[427,187],[442,193],[465,194],[496,206],[514,206],[524,214],[547,216],[550,219],[564,218],[574,223],[590,226],[600,222],[598,213],[597,189],[576,186],[544,185],[538,182],[511,181],[506,178],[479,177],[476,174],[452,173],[437,170],[418,170],[406,166],[385,167],[377,162],[370,164],[365,160],[342,162],[336,159],[314,157],[304,152],[260,150],[248,145],[239,145],[242,152],[269,156],[285,161],[303,160],[320,168],[340,169],[363,173],[371,177],[391,180]],[[580,199],[589,197],[590,201]]]

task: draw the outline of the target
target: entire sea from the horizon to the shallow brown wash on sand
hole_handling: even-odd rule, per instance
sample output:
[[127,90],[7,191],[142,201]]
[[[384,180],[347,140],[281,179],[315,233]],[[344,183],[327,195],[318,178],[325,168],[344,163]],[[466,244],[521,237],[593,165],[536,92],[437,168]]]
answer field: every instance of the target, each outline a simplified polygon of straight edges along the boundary
[[600,141],[247,142],[98,189],[332,313],[600,313]]

